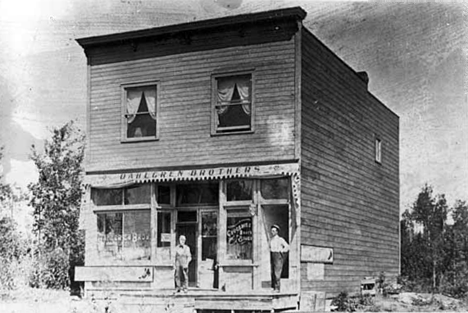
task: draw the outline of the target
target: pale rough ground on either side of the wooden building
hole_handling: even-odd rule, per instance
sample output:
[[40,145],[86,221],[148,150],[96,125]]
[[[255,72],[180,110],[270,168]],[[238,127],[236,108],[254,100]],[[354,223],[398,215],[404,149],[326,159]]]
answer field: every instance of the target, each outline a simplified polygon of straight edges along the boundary
[[[468,312],[466,301],[443,295],[400,293],[376,296],[360,312]],[[70,296],[67,291],[22,289],[0,291],[1,313],[106,313],[104,303]],[[108,313],[118,313],[108,310]]]

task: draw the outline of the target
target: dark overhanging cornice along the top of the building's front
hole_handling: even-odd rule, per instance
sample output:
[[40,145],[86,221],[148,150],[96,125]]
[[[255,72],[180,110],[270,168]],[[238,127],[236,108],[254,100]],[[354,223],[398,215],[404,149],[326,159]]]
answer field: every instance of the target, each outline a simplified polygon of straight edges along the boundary
[[167,25],[161,27],[154,27],[142,30],[128,31],[122,33],[114,33],[109,35],[100,35],[93,37],[78,38],[76,41],[83,48],[91,46],[109,44],[114,42],[128,41],[133,39],[142,39],[149,37],[156,37],[171,33],[180,33],[185,31],[204,30],[214,27],[222,27],[226,25],[244,24],[259,22],[265,20],[276,20],[284,18],[294,18],[296,20],[303,20],[307,13],[301,7],[291,7],[285,9],[263,11],[256,13],[247,13],[240,15],[225,16],[219,18],[212,18],[207,20],[199,20],[194,22],[187,22],[182,24]]

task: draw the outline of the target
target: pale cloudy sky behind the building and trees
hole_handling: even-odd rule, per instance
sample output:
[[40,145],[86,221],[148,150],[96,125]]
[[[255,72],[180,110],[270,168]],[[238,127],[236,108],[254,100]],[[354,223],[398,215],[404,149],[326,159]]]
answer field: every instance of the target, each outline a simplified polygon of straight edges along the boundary
[[400,117],[401,211],[424,184],[468,200],[468,5],[462,1],[0,0],[0,165],[37,179],[30,146],[86,129],[86,58],[75,39],[301,6],[304,25]]

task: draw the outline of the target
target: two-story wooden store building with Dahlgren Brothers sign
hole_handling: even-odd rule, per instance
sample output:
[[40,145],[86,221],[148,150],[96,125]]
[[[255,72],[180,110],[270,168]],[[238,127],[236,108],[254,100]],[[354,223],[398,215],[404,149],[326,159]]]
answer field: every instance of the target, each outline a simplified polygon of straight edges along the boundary
[[[296,7],[78,39],[88,146],[76,275],[88,295],[178,297],[199,312],[310,309],[311,293],[396,277],[398,117],[305,16]],[[272,224],[290,245],[279,293]],[[190,288],[172,295],[181,234]]]

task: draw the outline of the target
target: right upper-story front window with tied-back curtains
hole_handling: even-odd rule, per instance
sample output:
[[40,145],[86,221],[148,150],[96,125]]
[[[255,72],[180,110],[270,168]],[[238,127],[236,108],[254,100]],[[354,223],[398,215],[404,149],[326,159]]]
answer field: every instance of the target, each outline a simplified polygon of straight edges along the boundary
[[213,79],[212,134],[253,131],[252,74]]

